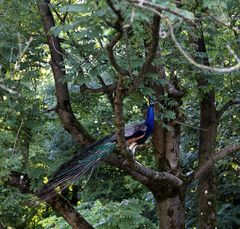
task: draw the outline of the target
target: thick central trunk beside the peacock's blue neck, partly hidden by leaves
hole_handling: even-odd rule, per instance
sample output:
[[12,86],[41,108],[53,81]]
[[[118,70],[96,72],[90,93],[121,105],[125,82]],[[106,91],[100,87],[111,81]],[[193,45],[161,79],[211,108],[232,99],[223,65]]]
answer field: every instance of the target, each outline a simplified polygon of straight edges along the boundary
[[[160,55],[160,54],[158,54]],[[166,79],[163,66],[149,66],[149,72],[159,74],[160,78]],[[177,82],[170,82],[165,87],[154,84],[151,85],[156,97],[160,98],[165,92],[174,99],[178,105],[174,108],[176,117],[179,117],[179,106],[184,93],[177,88]],[[170,90],[171,88],[171,90]],[[161,102],[161,101],[159,101]],[[161,112],[159,106],[155,106],[156,114]],[[169,129],[163,127],[162,123],[155,121],[153,145],[155,158],[159,171],[169,172],[175,176],[181,173],[179,166],[180,153],[180,125],[174,121],[166,123]],[[185,228],[184,213],[184,188],[174,188],[172,185],[156,186],[153,184],[150,190],[157,201],[157,210],[160,229],[180,229]]]

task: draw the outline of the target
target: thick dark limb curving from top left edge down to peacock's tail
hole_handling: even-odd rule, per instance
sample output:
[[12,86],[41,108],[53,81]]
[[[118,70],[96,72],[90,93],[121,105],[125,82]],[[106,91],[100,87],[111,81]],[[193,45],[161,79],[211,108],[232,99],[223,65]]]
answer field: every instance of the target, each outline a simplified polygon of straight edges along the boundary
[[93,142],[93,138],[78,122],[72,111],[68,86],[67,83],[63,83],[63,79],[66,76],[66,71],[60,40],[58,37],[54,37],[52,34],[50,34],[50,30],[53,26],[55,26],[55,22],[48,3],[49,1],[47,0],[40,0],[38,2],[38,8],[50,48],[51,67],[55,80],[57,98],[56,110],[64,128],[75,138],[78,143],[86,146]]

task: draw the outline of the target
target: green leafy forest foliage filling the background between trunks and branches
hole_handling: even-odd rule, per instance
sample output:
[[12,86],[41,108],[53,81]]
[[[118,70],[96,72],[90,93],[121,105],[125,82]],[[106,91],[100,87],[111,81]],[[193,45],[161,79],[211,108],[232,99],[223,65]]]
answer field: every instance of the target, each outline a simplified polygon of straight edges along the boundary
[[[114,47],[118,65],[130,72],[125,79],[125,85],[130,86],[151,40],[149,23],[153,12],[134,6],[134,1],[113,2],[118,2],[118,9],[124,12],[126,31],[131,26],[131,31],[125,31]],[[183,0],[181,8],[178,1],[151,2],[180,15],[163,12],[171,21],[178,42],[192,58],[201,62],[207,55],[210,65],[219,69],[240,62],[238,1]],[[51,34],[61,40],[66,67],[63,83],[68,83],[74,114],[93,139],[101,139],[115,131],[111,100],[99,88],[114,85],[118,79],[106,49],[116,33],[111,27],[116,15],[105,0],[52,0],[50,8],[56,21]],[[0,0],[0,13],[0,224],[13,228],[70,228],[60,215],[33,195],[59,165],[83,148],[64,130],[55,112],[51,57],[37,1]],[[186,21],[200,23],[207,54],[196,52],[191,39],[199,34]],[[147,96],[161,101],[156,122],[167,130],[169,122],[181,125],[180,164],[182,174],[187,175],[198,167],[199,103],[204,93],[215,90],[218,110],[229,101],[233,103],[220,119],[216,150],[240,142],[239,69],[217,72],[194,66],[176,47],[168,28],[166,21],[161,24],[161,54],[153,60],[154,65],[164,66],[166,78],[155,73],[145,76],[124,100],[124,122],[144,119]],[[199,74],[208,82],[200,90],[196,82]],[[156,98],[149,86],[154,83],[164,87],[174,77],[185,94],[177,112],[176,100],[166,93]],[[158,169],[151,141],[137,151],[136,159]],[[240,225],[239,171],[239,152],[216,163],[217,228]],[[12,172],[31,178],[30,192],[9,185]],[[195,181],[186,190],[187,228],[197,225],[197,186]],[[74,202],[77,210],[95,228],[158,228],[152,193],[120,169],[105,163],[70,186],[65,196],[70,202],[77,197]]]

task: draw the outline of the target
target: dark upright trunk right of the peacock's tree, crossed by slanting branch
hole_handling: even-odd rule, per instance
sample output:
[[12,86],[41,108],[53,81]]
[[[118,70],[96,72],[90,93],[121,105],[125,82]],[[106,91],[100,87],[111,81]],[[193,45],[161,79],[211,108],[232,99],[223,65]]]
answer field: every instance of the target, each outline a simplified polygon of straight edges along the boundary
[[[205,41],[203,35],[199,38],[198,51],[206,53]],[[206,65],[209,65],[208,58],[205,58]],[[209,86],[206,76],[198,77],[199,88]],[[200,90],[201,92],[201,90]],[[199,166],[206,161],[215,152],[215,141],[217,134],[217,113],[215,106],[215,92],[210,90],[204,93],[200,102],[200,141],[199,141]],[[214,166],[205,171],[199,179],[199,209],[198,224],[199,228],[215,228],[216,224],[216,181]]]

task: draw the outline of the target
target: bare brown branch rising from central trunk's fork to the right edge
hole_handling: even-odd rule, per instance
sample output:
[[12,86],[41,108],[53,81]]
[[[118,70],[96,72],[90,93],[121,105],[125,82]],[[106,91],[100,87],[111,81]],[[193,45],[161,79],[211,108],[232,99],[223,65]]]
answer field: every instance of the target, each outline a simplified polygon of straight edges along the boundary
[[204,173],[214,165],[217,161],[223,159],[225,156],[235,153],[240,150],[240,144],[233,144],[215,152],[204,164],[202,164],[194,173],[190,174],[187,180],[187,184],[190,184],[194,180],[201,178]]

